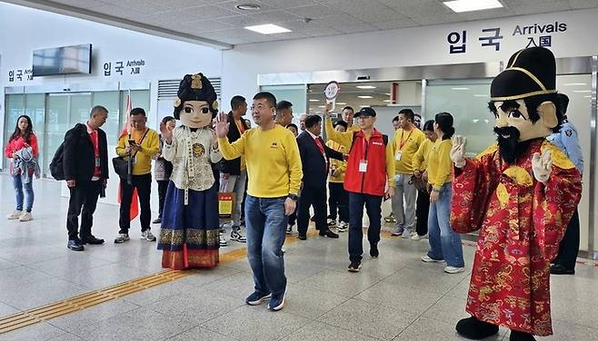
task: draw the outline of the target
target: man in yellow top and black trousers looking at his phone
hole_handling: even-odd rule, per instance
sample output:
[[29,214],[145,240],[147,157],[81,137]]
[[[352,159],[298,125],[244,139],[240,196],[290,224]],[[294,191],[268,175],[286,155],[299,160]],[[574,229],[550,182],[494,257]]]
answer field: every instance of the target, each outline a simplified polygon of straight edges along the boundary
[[131,158],[131,184],[121,179],[121,207],[118,225],[118,237],[116,244],[129,240],[129,228],[131,227],[131,201],[133,190],[137,189],[139,195],[139,206],[141,207],[141,239],[155,241],[150,231],[150,220],[152,210],[150,208],[150,194],[152,190],[152,158],[160,151],[160,138],[153,129],[145,126],[147,118],[145,110],[134,108],[130,118],[131,133],[121,136],[116,145],[116,154],[121,157]]

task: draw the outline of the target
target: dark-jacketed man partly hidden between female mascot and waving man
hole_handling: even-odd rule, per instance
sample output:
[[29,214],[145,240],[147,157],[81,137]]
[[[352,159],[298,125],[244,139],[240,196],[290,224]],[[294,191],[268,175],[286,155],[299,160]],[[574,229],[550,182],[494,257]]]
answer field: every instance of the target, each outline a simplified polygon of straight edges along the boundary
[[[234,96],[231,99],[231,112],[228,112],[229,129],[226,137],[233,143],[241,138],[246,130],[249,130],[247,123],[243,119],[247,112],[247,102],[243,96]],[[241,233],[241,203],[244,198],[245,186],[247,184],[247,167],[245,166],[244,156],[234,160],[224,160],[221,168],[220,190],[224,192],[234,192],[233,219],[231,221],[231,240],[244,243],[247,241]],[[224,238],[224,228],[220,233],[220,246],[227,245]]]

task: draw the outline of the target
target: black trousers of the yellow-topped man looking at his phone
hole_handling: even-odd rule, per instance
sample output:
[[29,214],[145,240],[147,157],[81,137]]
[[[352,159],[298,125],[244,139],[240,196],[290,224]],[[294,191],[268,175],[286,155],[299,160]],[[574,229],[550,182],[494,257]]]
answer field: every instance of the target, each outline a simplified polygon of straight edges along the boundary
[[121,211],[118,225],[120,231],[118,233],[129,233],[131,228],[131,200],[133,199],[133,190],[137,189],[139,195],[139,206],[141,210],[141,231],[144,232],[150,229],[150,220],[152,219],[152,211],[150,208],[150,194],[152,192],[152,174],[132,175],[132,184],[126,183],[126,180],[121,179]]

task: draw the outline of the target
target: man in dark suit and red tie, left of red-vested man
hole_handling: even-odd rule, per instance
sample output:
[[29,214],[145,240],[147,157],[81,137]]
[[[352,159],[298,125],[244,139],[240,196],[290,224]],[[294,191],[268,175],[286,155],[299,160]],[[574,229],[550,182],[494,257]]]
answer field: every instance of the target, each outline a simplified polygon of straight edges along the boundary
[[299,154],[303,164],[304,179],[301,190],[301,205],[297,213],[297,231],[299,239],[306,239],[309,224],[309,208],[314,205],[315,229],[320,236],[338,238],[338,235],[328,229],[326,223],[326,179],[330,159],[343,160],[343,153],[327,147],[320,137],[322,133],[322,118],[318,115],[308,115],[305,119],[305,131],[297,136]]

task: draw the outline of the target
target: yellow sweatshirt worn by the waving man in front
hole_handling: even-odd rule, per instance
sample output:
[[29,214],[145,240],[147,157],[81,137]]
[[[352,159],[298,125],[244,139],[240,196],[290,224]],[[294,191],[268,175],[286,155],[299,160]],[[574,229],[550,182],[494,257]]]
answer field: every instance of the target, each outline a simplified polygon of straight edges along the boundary
[[299,147],[293,132],[276,124],[274,129],[250,129],[230,143],[218,139],[224,159],[240,156],[247,162],[247,194],[257,198],[280,198],[297,194],[303,178]]

